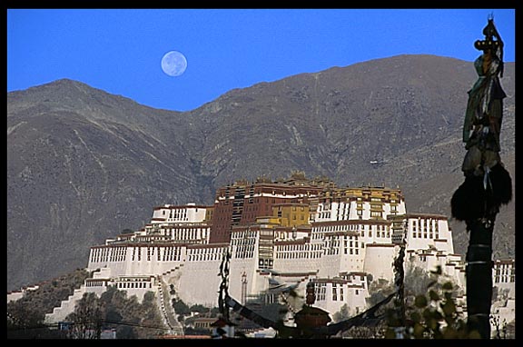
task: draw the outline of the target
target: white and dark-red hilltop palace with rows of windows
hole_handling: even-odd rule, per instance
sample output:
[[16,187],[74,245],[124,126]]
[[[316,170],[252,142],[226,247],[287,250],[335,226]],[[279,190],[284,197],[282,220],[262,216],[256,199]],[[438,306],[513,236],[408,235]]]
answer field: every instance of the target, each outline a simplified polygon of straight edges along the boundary
[[[84,292],[108,286],[143,298],[153,291],[165,324],[176,333],[169,292],[188,304],[217,306],[223,253],[231,253],[229,294],[238,302],[312,281],[317,307],[331,316],[347,304],[350,315],[368,308],[373,281],[393,283],[392,263],[405,243],[405,267],[438,265],[461,288],[465,263],[454,253],[448,217],[406,209],[400,189],[337,187],[327,179],[235,182],[218,189],[211,206],[166,204],[150,223],[91,248],[87,270],[94,276],[46,315],[60,322]],[[515,318],[515,262],[494,262],[493,283],[508,292],[492,313]],[[464,291],[463,291],[464,292]],[[8,298],[9,300],[9,298]],[[464,297],[459,298],[463,307]],[[466,308],[464,307],[466,312]]]

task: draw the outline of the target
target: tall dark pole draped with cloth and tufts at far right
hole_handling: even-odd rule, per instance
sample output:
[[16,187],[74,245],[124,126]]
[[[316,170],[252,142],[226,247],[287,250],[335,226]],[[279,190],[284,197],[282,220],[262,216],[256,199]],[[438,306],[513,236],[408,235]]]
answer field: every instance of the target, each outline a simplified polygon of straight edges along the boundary
[[503,41],[492,16],[488,17],[483,35],[484,40],[474,43],[483,54],[474,62],[479,79],[468,92],[463,125],[467,154],[461,170],[465,182],[452,196],[450,205],[452,216],[465,221],[470,233],[466,257],[468,329],[489,339],[492,233],[500,205],[512,199],[512,183],[499,156],[506,94],[499,83],[499,77],[503,77]]

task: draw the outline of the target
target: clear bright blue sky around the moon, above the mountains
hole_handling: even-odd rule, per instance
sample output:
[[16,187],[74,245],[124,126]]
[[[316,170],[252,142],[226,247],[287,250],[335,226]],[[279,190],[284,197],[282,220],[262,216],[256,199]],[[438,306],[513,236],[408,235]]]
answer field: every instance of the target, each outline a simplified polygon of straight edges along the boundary
[[[472,62],[490,14],[514,62],[514,9],[8,9],[7,91],[69,78],[189,111],[235,88],[393,55]],[[162,70],[172,50],[187,59],[179,76]]]

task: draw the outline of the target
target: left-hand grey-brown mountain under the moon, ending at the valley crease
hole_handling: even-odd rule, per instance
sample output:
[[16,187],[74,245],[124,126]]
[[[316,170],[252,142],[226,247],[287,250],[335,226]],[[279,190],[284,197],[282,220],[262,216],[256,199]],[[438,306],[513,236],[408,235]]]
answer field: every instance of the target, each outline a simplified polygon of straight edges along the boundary
[[182,114],[69,80],[7,104],[8,287],[84,267],[91,245],[153,206],[202,198]]

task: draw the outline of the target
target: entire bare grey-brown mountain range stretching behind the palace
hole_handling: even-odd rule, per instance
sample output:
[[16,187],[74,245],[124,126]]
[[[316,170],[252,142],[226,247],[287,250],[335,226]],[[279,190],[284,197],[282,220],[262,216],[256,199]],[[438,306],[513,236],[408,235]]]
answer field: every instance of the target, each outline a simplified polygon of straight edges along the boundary
[[[515,182],[515,64],[505,64],[502,159]],[[7,94],[7,286],[84,267],[89,247],[164,203],[212,204],[238,179],[293,170],[400,186],[410,212],[450,216],[463,181],[471,62],[398,55],[234,89],[190,112],[58,80]],[[464,223],[450,221],[457,253]],[[494,255],[515,256],[514,201]]]

